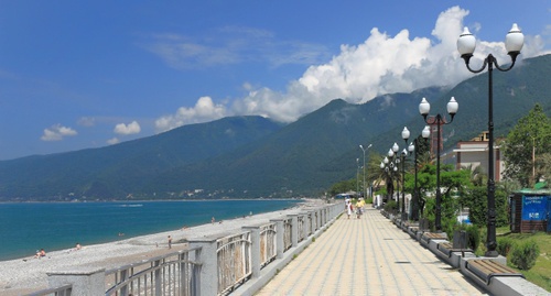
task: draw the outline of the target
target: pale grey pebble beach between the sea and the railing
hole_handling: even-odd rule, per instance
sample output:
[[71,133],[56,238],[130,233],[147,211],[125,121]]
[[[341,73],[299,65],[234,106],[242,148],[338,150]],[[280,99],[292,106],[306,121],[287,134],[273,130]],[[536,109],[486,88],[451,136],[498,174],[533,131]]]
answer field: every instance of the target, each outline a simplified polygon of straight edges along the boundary
[[[46,256],[42,259],[35,259],[32,255],[0,261],[0,294],[4,296],[21,295],[47,288],[46,273],[48,272],[76,266],[115,268],[132,262],[185,250],[188,239],[234,232],[240,230],[244,226],[269,222],[271,219],[323,206],[324,202],[321,199],[305,199],[304,202],[289,209],[215,221],[115,242],[83,245],[80,250],[76,248],[53,252],[46,250]],[[169,235],[172,237],[172,249],[169,249]]]

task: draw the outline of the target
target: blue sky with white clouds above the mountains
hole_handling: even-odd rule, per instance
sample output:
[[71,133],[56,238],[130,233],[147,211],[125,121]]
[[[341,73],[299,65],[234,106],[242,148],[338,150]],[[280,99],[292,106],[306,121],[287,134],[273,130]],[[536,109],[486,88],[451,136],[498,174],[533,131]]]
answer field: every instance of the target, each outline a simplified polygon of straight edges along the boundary
[[0,0],[0,160],[453,86],[463,26],[508,63],[512,23],[550,53],[551,1]]

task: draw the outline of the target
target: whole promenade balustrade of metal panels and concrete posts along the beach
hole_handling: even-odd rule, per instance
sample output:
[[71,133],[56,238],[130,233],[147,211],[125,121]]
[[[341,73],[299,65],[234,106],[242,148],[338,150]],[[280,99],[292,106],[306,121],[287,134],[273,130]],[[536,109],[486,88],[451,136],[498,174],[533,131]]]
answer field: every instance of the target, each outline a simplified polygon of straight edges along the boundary
[[342,204],[333,204],[266,224],[244,226],[238,233],[191,239],[188,250],[109,271],[51,272],[52,288],[29,295],[227,295],[342,212]]

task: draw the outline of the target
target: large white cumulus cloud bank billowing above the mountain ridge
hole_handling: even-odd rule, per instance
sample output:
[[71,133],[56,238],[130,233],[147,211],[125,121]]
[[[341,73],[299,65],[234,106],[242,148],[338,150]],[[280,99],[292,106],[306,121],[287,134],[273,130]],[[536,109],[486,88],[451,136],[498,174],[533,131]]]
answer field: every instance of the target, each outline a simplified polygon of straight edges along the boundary
[[[391,36],[374,28],[364,43],[342,45],[338,55],[325,64],[310,66],[302,77],[289,83],[284,92],[246,85],[248,95],[228,106],[215,105],[210,98],[203,97],[195,107],[182,107],[175,116],[159,119],[158,130],[233,114],[259,114],[292,122],[336,98],[361,103],[386,94],[454,86],[473,77],[456,48],[463,20],[468,13],[460,7],[443,11],[431,37],[410,36],[406,29]],[[475,23],[469,30],[476,34],[482,25]],[[541,54],[542,48],[541,37],[527,36],[522,57]],[[478,41],[473,67],[477,66],[476,63],[482,65],[489,53],[498,61],[509,61],[503,42]],[[209,112],[202,112],[205,103]]]

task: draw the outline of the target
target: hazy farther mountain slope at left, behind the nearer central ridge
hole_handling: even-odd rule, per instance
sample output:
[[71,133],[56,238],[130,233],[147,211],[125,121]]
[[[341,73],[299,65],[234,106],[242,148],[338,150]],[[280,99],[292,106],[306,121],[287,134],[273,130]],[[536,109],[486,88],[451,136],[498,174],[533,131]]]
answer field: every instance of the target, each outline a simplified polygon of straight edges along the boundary
[[191,124],[101,149],[0,162],[0,200],[125,198],[163,172],[227,153],[281,129],[261,117]]

